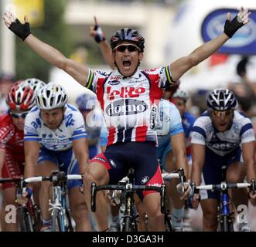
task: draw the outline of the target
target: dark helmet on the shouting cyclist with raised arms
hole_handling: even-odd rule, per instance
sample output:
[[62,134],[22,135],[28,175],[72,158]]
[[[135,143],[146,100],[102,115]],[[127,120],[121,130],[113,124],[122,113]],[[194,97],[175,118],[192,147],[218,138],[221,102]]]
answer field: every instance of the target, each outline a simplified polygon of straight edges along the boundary
[[125,28],[115,32],[111,37],[111,49],[114,49],[122,41],[134,42],[141,49],[140,52],[144,51],[145,39],[135,29]]

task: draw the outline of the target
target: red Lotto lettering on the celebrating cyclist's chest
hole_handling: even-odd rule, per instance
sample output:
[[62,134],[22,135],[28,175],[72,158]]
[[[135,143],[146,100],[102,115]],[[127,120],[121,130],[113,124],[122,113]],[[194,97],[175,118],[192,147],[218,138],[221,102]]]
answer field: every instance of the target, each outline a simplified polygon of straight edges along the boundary
[[107,93],[109,100],[114,100],[116,96],[121,98],[137,98],[142,93],[145,93],[144,87],[135,88],[134,86],[124,87],[122,86],[120,90],[112,90],[112,86],[107,86]]

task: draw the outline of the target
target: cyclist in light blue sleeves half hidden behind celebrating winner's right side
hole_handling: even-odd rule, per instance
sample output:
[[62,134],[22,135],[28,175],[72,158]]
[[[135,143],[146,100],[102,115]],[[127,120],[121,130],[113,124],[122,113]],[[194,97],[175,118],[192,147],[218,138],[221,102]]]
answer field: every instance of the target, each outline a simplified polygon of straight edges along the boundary
[[[183,167],[186,176],[188,176],[188,165],[186,161],[185,135],[182,125],[182,119],[179,110],[169,100],[160,100],[159,119],[155,127],[158,137],[157,155],[161,167],[168,171],[175,171]],[[176,162],[172,162],[172,155]],[[168,198],[172,203],[172,227],[175,232],[183,231],[184,201],[181,200],[176,190],[179,187],[178,181],[170,181],[168,188]]]

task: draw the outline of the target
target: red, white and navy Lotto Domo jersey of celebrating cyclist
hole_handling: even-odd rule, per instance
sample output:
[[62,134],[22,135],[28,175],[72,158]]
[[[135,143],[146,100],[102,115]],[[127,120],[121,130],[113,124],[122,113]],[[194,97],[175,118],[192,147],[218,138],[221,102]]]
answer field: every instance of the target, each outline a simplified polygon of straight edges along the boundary
[[108,146],[129,141],[156,143],[155,120],[161,89],[172,85],[169,66],[137,70],[122,76],[118,70],[107,74],[89,70],[86,87],[101,103],[109,135]]

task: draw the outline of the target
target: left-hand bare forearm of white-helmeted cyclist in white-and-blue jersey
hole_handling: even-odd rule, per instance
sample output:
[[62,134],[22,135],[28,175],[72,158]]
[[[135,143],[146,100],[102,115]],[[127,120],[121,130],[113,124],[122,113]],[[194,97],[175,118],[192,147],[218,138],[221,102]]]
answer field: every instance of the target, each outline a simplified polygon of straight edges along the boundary
[[40,144],[36,140],[26,140],[25,150],[25,178],[36,176],[36,164],[39,156]]

